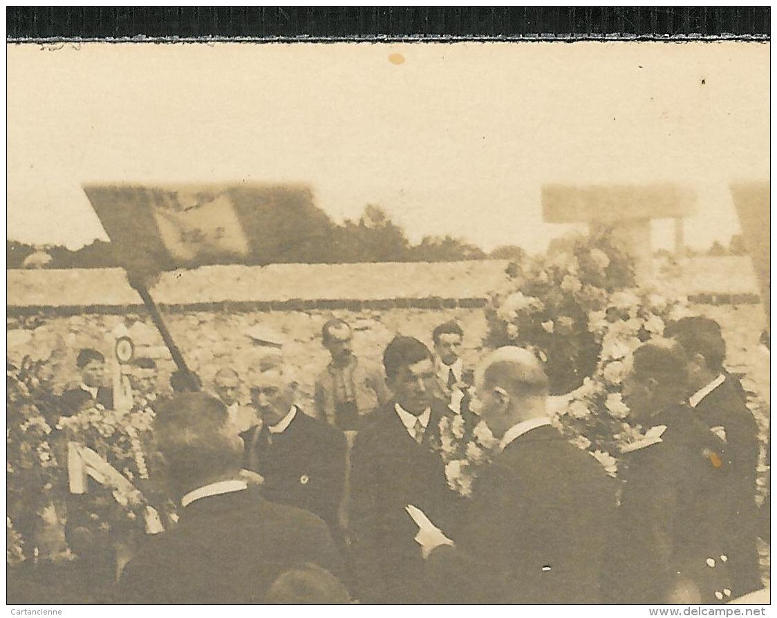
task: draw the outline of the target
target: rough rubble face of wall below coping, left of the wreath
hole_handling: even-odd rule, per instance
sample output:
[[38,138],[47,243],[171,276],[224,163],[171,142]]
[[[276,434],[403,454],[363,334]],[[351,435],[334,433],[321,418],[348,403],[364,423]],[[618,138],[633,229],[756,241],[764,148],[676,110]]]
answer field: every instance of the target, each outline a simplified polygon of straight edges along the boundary
[[[434,326],[446,319],[458,319],[465,330],[465,360],[475,361],[486,333],[482,308],[454,309],[309,309],[301,311],[200,311],[166,316],[169,330],[190,365],[207,386],[222,366],[246,375],[256,362],[260,348],[246,334],[257,325],[281,333],[284,355],[294,367],[301,384],[301,405],[310,406],[315,376],[328,362],[321,345],[321,327],[336,316],[354,326],[354,350],[361,358],[379,364],[386,344],[402,333],[431,344]],[[75,316],[11,316],[8,319],[9,358],[18,361],[25,354],[57,358],[55,385],[64,389],[77,382],[75,353],[81,347],[96,347],[106,358],[113,354],[110,333],[124,323],[136,344],[136,356],[155,358],[159,367],[159,388],[169,389],[175,365],[162,338],[148,316],[138,313],[104,313]],[[244,393],[245,395],[246,393]]]

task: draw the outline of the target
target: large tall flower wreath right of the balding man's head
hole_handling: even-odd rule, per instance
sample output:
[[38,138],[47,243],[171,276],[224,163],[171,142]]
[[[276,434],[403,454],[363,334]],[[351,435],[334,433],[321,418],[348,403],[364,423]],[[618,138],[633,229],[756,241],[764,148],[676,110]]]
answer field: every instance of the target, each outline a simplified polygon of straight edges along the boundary
[[510,267],[511,288],[487,309],[493,347],[535,351],[549,376],[553,423],[615,476],[623,445],[641,438],[621,396],[632,352],[688,315],[687,299],[637,288],[630,257],[606,231]]

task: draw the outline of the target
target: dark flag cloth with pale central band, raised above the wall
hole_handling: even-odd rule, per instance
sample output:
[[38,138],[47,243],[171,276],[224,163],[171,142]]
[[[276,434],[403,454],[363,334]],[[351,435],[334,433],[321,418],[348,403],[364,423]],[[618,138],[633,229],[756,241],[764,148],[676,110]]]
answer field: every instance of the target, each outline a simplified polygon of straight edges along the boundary
[[283,262],[326,246],[329,217],[303,185],[84,187],[119,263],[132,276],[208,264]]

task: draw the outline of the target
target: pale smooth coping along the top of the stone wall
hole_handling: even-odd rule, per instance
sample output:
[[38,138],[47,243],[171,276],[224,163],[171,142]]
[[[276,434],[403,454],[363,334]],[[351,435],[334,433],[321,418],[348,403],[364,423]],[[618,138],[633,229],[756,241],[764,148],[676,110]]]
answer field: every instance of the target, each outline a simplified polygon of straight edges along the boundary
[[[471,309],[507,282],[508,260],[210,266],[162,274],[152,295],[170,312],[309,309]],[[695,302],[759,302],[744,256],[681,260],[672,287]],[[142,312],[121,268],[9,270],[10,314]]]

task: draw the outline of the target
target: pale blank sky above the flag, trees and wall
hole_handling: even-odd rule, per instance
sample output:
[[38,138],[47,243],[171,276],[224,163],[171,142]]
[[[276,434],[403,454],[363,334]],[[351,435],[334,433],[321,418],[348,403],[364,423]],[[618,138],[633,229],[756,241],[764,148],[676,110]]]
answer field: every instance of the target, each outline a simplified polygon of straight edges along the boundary
[[[769,46],[8,46],[8,237],[105,238],[82,183],[302,181],[335,220],[542,250],[543,183],[674,181],[686,241],[737,232],[768,178]],[[389,62],[400,53],[406,61]],[[702,85],[704,79],[704,85]],[[654,226],[671,246],[670,222]]]

